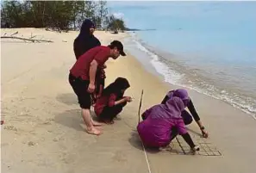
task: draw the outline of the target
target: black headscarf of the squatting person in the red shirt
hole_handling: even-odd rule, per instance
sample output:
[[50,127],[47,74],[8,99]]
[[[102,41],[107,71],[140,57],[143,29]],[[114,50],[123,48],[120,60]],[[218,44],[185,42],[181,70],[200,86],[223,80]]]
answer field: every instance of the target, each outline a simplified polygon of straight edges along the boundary
[[114,83],[110,83],[109,86],[103,90],[103,96],[109,96],[116,94],[117,98],[123,96],[122,90],[126,90],[130,87],[128,80],[123,77],[117,77]]

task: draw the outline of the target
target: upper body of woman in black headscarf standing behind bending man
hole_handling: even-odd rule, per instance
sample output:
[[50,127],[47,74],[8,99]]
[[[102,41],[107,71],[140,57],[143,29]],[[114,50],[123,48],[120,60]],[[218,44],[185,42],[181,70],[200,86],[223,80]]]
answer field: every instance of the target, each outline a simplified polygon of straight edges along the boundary
[[93,35],[95,24],[89,19],[85,19],[78,37],[74,40],[73,48],[78,59],[82,54],[95,46],[101,46],[101,42]]

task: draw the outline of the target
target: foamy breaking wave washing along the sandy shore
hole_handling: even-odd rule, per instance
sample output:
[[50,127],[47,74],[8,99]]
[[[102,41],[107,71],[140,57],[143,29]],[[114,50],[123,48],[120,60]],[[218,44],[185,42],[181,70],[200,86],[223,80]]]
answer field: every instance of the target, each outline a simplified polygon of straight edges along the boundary
[[[163,62],[162,59],[164,58],[151,50],[136,34],[131,34],[131,38],[136,45],[136,48],[147,54],[150,58],[150,63],[153,65],[154,69],[165,78],[165,82],[185,87],[190,90],[196,90],[204,95],[214,97],[223,102],[228,102],[234,108],[239,108],[245,113],[252,115],[253,119],[256,120],[256,101],[253,100],[253,98],[243,96],[242,94],[230,93],[228,90],[220,89],[220,87],[204,81],[204,78],[197,75],[197,73],[184,71],[184,69],[180,70],[181,68],[177,67],[175,68],[175,65],[173,64],[176,62]],[[191,80],[190,77],[188,77],[189,74],[194,74],[193,79],[195,80]]]

